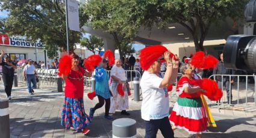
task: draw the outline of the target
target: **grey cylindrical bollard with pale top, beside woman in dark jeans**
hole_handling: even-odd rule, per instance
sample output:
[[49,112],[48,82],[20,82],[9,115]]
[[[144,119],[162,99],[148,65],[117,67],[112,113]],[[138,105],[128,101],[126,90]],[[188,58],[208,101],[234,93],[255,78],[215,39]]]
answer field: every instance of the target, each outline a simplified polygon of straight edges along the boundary
[[136,137],[136,121],[131,118],[120,118],[112,122],[112,136],[135,138]]

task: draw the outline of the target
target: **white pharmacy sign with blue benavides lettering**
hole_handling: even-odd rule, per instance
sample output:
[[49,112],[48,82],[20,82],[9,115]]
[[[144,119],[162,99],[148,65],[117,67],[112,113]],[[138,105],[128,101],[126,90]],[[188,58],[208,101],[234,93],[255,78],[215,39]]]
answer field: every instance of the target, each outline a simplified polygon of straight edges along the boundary
[[26,37],[20,37],[20,36],[8,36],[7,34],[0,34],[0,44],[5,46],[16,46],[16,47],[37,47],[42,48],[43,43],[39,39],[36,41],[36,43],[30,43],[30,41],[27,41]]

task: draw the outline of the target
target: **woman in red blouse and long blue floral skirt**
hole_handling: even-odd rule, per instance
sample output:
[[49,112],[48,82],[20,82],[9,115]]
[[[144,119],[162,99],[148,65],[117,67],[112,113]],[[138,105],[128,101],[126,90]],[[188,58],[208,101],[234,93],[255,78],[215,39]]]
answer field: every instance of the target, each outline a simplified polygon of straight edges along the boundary
[[72,55],[72,67],[70,73],[61,77],[66,80],[64,106],[61,113],[61,125],[66,129],[75,128],[77,132],[83,134],[89,133],[87,125],[90,124],[90,118],[84,112],[84,75],[92,76],[92,72],[87,72],[82,67],[78,67],[79,56]]

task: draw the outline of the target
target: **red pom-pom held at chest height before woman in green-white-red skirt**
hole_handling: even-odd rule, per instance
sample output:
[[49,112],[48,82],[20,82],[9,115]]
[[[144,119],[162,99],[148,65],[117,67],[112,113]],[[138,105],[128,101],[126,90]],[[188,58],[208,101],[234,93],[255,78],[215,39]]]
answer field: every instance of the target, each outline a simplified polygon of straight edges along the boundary
[[206,92],[202,92],[207,96],[211,101],[218,101],[222,97],[222,91],[218,88],[217,82],[211,79],[203,78],[200,80],[201,88],[205,89]]

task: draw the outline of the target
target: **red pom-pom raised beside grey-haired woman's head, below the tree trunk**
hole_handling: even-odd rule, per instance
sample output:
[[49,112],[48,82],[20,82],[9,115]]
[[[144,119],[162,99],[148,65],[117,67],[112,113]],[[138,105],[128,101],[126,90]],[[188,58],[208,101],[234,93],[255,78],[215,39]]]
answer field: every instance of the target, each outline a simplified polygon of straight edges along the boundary
[[214,68],[217,67],[218,59],[214,58],[214,56],[211,55],[205,55],[204,52],[199,51],[196,52],[195,55],[191,58],[190,64],[195,66],[196,68]]

